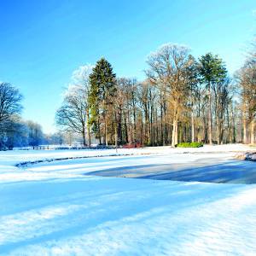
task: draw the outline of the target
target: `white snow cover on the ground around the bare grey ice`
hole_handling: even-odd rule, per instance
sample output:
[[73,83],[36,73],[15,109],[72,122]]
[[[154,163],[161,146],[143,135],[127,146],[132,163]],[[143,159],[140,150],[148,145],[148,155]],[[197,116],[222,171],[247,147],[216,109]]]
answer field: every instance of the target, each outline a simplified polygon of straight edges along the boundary
[[[110,176],[120,170],[123,176],[142,177],[158,172],[158,165],[181,170],[227,162],[230,168],[239,163],[245,172],[256,172],[256,163],[232,160],[236,152],[251,149],[224,145],[118,153],[1,152],[0,254],[255,255],[254,184],[94,175]],[[86,156],[102,157],[15,167],[25,161]],[[142,168],[133,175],[125,169],[124,174],[128,166]]]

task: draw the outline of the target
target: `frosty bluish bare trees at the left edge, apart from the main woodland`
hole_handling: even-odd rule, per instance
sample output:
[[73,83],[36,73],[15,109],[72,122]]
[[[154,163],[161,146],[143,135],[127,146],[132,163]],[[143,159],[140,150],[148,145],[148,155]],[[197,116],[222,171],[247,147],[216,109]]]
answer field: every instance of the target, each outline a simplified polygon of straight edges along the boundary
[[9,83],[0,83],[0,149],[44,143],[40,125],[20,117],[22,96]]

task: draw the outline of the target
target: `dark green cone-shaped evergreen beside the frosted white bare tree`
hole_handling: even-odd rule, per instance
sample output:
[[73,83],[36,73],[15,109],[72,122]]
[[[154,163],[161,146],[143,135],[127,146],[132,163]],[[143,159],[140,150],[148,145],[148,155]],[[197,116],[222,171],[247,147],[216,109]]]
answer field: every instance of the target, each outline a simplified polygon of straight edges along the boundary
[[116,94],[115,73],[111,64],[104,58],[96,62],[90,74],[90,119],[101,139],[101,119],[104,123],[104,143],[108,146],[108,112],[112,108]]

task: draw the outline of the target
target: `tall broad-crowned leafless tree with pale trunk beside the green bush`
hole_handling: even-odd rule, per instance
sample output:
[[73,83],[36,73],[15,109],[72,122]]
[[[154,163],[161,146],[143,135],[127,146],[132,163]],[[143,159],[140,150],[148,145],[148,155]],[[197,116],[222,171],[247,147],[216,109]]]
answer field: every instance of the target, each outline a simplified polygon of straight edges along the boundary
[[172,116],[172,147],[177,145],[178,121],[187,100],[189,84],[187,67],[189,49],[178,44],[165,44],[148,57],[148,79],[165,85],[169,113]]

